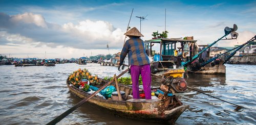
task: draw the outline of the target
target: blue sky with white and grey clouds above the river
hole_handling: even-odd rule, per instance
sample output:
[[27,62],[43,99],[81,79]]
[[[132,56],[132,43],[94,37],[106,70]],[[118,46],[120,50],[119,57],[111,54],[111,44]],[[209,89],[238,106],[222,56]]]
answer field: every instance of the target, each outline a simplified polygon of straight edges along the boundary
[[[166,28],[168,38],[194,36],[198,44],[209,44],[224,35],[225,27],[237,24],[238,39],[216,44],[232,47],[256,35],[255,6],[249,0],[0,0],[0,54],[48,59],[115,54],[122,49],[132,10],[129,27],[141,28],[143,40]],[[136,16],[145,17],[141,27]]]

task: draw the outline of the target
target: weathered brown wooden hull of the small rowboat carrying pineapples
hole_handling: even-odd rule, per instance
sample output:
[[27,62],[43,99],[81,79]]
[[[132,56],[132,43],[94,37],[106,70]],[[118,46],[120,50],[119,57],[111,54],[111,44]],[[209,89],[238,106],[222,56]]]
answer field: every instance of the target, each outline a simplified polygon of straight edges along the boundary
[[[101,85],[108,83],[109,81],[99,79]],[[115,83],[111,83],[115,85]],[[89,93],[73,86],[67,79],[67,86],[70,91],[80,98],[86,98],[90,96]],[[125,92],[125,99],[123,101],[115,101],[113,99],[103,99],[96,95],[89,99],[88,102],[108,109],[115,115],[119,115],[126,118],[143,120],[147,122],[169,122],[174,124],[178,117],[189,107],[182,105],[179,99],[173,95],[168,107],[163,107],[163,100],[160,99],[129,99],[128,95],[132,93],[132,87],[118,84],[120,91]]]

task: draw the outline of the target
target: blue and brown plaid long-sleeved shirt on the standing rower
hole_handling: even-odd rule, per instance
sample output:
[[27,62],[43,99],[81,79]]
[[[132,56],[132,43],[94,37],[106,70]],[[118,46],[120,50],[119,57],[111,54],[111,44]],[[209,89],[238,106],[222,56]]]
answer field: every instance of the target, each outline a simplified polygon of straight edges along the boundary
[[131,38],[125,42],[120,54],[120,65],[123,64],[123,60],[127,54],[129,65],[140,66],[150,64],[150,60],[148,59],[144,48],[144,42],[140,38]]

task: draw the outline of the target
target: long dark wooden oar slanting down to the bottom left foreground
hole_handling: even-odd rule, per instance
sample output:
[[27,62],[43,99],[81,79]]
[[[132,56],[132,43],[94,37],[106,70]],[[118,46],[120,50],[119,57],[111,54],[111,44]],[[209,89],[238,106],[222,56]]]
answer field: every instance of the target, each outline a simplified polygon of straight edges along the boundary
[[[129,69],[124,70],[122,73],[120,73],[116,78],[118,79],[119,77],[121,77],[125,72],[129,71]],[[82,104],[84,104],[85,102],[87,102],[90,98],[92,98],[94,95],[96,95],[97,93],[99,93],[102,89],[104,89],[105,87],[109,86],[112,82],[114,82],[115,79],[112,79],[110,82],[106,83],[104,86],[100,87],[97,91],[95,91],[94,93],[92,93],[90,96],[88,96],[87,98],[82,99],[82,101],[80,101],[79,103],[77,103],[75,106],[73,106],[72,108],[70,108],[69,110],[67,110],[66,112],[62,113],[61,115],[59,115],[58,117],[54,118],[52,121],[50,121],[47,124],[56,124],[58,123],[61,119],[65,118],[66,116],[68,116],[70,113],[72,113],[74,110],[76,110],[78,107],[80,107]]]

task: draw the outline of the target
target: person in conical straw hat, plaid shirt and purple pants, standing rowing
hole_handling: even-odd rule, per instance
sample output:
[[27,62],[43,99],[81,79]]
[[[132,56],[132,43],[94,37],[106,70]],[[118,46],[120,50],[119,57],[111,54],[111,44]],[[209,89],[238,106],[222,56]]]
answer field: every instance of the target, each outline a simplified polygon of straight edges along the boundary
[[124,35],[130,39],[125,41],[122,52],[120,54],[120,66],[123,64],[124,58],[128,54],[129,65],[131,69],[131,77],[133,82],[133,98],[140,98],[139,96],[139,76],[141,74],[145,98],[151,99],[151,71],[150,60],[146,55],[144,42],[140,37],[143,35],[137,28],[132,28]]

